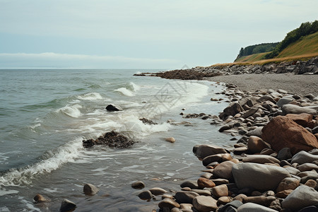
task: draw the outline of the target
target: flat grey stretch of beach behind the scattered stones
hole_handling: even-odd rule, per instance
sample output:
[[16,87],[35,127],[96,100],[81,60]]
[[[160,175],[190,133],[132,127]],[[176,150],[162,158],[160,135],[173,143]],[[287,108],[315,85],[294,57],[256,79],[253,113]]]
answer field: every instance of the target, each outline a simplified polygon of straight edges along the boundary
[[230,76],[214,76],[208,81],[232,83],[240,90],[254,92],[258,89],[283,89],[296,95],[312,93],[318,95],[318,75],[280,74],[243,74]]

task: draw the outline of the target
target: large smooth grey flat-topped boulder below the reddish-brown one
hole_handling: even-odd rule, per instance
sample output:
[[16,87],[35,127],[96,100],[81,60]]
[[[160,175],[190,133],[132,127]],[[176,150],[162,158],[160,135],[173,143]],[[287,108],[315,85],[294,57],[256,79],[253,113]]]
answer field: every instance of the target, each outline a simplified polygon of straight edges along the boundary
[[283,167],[258,163],[239,163],[232,166],[232,175],[238,189],[253,187],[257,190],[274,190],[290,174]]

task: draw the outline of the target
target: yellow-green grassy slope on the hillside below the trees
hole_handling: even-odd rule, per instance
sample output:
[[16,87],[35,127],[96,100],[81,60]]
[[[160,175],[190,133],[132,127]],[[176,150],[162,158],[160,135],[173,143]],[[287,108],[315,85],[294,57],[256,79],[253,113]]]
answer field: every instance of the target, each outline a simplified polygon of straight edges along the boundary
[[261,59],[266,53],[252,54],[237,59],[234,64],[266,64],[269,62],[309,59],[318,56],[318,32],[307,35],[290,44],[281,54],[273,59]]

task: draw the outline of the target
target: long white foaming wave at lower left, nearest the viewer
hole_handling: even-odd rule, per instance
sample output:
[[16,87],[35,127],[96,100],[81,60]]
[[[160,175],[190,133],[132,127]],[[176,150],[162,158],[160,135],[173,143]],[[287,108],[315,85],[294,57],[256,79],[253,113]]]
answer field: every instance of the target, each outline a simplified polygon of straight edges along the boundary
[[32,180],[36,177],[57,170],[64,163],[73,162],[83,150],[82,140],[83,138],[78,138],[60,146],[56,150],[47,151],[43,156],[45,159],[39,163],[6,172],[0,177],[0,185],[20,186],[32,184]]

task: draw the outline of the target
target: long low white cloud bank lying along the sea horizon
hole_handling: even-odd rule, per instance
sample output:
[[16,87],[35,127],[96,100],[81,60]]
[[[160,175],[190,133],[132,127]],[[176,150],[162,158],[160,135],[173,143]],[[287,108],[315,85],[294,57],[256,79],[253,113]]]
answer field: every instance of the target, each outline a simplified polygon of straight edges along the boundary
[[175,59],[149,59],[122,56],[97,56],[86,54],[0,53],[0,69],[166,69],[178,66]]

